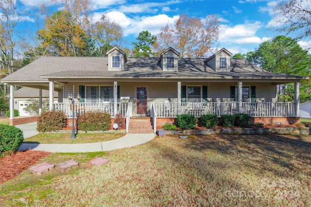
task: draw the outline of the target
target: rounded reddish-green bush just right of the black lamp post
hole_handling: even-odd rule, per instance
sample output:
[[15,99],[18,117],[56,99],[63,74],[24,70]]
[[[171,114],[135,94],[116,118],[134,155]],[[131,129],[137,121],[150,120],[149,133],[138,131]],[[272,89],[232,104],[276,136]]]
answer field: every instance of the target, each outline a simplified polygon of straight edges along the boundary
[[102,111],[91,111],[78,117],[77,128],[82,131],[105,131],[111,127],[111,115]]

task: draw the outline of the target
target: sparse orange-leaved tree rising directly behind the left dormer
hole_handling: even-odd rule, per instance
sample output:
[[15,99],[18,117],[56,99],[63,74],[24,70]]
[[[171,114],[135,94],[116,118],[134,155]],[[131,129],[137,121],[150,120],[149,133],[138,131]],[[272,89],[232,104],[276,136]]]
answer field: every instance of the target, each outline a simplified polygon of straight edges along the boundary
[[123,31],[121,26],[103,15],[101,19],[90,27],[90,35],[95,42],[97,56],[105,56],[106,52],[118,45],[122,40]]

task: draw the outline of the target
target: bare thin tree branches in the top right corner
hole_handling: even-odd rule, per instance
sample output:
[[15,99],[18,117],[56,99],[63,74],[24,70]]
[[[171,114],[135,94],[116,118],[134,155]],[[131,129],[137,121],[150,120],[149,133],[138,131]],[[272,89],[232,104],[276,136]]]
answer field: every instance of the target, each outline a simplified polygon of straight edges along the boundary
[[286,35],[293,33],[296,40],[311,36],[311,3],[310,0],[279,1],[275,8],[274,21],[281,23],[279,32]]

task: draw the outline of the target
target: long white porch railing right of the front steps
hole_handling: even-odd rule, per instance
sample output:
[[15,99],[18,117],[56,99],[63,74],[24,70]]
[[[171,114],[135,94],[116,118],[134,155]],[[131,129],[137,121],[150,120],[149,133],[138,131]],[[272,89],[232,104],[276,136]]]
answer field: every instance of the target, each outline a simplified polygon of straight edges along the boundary
[[[177,102],[153,103],[157,117],[176,117]],[[242,102],[241,113],[252,117],[294,116],[294,102]],[[239,113],[237,102],[204,102],[181,103],[181,114],[192,114],[200,117],[203,114],[214,113],[220,117],[222,114]]]

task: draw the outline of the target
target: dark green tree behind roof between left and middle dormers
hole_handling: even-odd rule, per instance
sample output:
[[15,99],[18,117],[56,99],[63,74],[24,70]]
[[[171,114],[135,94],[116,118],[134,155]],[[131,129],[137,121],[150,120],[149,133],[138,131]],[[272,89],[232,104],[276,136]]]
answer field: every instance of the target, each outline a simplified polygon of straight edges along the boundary
[[135,57],[144,57],[148,58],[152,55],[152,46],[155,44],[156,36],[151,35],[148,31],[139,32],[138,37],[136,38],[138,42],[132,42],[133,56]]

